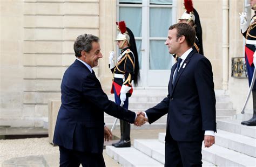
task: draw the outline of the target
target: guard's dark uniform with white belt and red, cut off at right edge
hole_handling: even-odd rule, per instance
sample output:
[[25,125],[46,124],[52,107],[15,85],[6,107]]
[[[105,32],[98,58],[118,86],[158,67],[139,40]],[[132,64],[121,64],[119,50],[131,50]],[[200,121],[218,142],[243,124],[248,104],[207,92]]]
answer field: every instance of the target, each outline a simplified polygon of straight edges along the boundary
[[[245,61],[246,61],[246,67],[247,67],[249,86],[251,86],[252,76],[253,76],[254,67],[255,67],[255,65],[253,65],[253,54],[255,52],[255,45],[256,45],[256,13],[252,17],[248,29],[244,33],[242,33],[242,35],[246,39]],[[254,84],[253,90],[256,90],[256,84]]]

